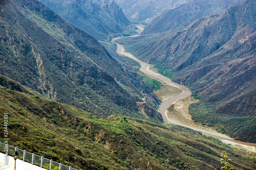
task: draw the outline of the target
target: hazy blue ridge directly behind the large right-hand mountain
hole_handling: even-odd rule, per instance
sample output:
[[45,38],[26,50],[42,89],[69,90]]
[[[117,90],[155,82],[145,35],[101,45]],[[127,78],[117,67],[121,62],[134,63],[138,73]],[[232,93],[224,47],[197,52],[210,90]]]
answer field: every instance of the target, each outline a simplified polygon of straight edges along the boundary
[[189,1],[152,19],[142,34],[165,32],[169,30],[173,32],[180,31],[198,18],[218,14],[224,9],[245,1],[246,0]]

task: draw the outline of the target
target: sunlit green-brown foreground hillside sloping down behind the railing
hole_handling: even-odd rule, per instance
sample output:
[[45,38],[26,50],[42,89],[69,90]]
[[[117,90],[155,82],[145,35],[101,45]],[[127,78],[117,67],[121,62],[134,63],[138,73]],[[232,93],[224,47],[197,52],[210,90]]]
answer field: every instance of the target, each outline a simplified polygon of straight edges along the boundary
[[8,113],[9,144],[78,169],[215,170],[221,167],[222,150],[232,159],[230,167],[255,169],[243,151],[232,151],[218,139],[129,117],[101,119],[47,100],[4,76],[0,96],[0,116]]

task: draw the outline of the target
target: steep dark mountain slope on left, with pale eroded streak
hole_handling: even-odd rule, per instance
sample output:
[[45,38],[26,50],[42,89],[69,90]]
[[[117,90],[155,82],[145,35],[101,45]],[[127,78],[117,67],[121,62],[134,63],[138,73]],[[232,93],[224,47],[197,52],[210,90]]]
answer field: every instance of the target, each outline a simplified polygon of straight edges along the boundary
[[[1,1],[0,8],[2,75],[101,117],[161,121],[150,88],[94,37],[36,0]],[[147,103],[138,105],[144,97]]]

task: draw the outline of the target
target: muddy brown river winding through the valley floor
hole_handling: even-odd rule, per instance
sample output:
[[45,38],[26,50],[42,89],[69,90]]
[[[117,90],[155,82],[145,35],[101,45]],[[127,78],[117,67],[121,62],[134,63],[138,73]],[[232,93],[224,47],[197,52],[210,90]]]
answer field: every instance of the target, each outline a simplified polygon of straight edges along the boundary
[[[139,36],[139,35],[135,35],[135,36]],[[135,36],[130,36],[130,37],[135,37]],[[122,37],[113,38],[112,41],[115,42],[115,40],[117,40],[119,38],[122,38]],[[118,44],[118,43],[116,43],[116,45],[117,45],[117,50],[116,50],[117,54],[129,57],[129,58],[131,58],[131,59],[140,63],[140,65],[141,65],[140,71],[144,72],[147,75],[150,75],[150,76],[153,76],[157,79],[160,79],[160,80],[162,80],[163,82],[165,82],[169,85],[172,85],[172,86],[175,86],[175,87],[178,87],[178,88],[182,89],[182,93],[180,93],[180,94],[174,96],[173,98],[170,98],[170,99],[161,103],[158,111],[161,113],[165,123],[180,125],[180,126],[184,126],[184,127],[196,130],[196,131],[200,131],[206,136],[212,136],[212,137],[215,137],[217,139],[222,140],[225,143],[230,143],[232,145],[240,145],[243,148],[246,148],[250,151],[256,152],[256,143],[248,143],[248,142],[237,141],[237,140],[234,140],[234,139],[232,139],[232,138],[230,138],[230,137],[228,137],[228,136],[226,136],[222,133],[218,133],[218,132],[216,132],[216,131],[214,131],[210,128],[205,128],[205,127],[202,127],[202,126],[198,126],[198,125],[195,125],[194,123],[182,124],[182,123],[179,123],[178,120],[168,118],[167,108],[170,105],[172,105],[175,101],[180,100],[182,98],[185,98],[186,96],[189,96],[191,94],[190,90],[188,88],[186,88],[185,86],[174,83],[170,79],[158,74],[157,72],[154,72],[154,71],[150,70],[152,65],[147,64],[147,63],[137,59],[131,53],[125,52],[123,45]]]

